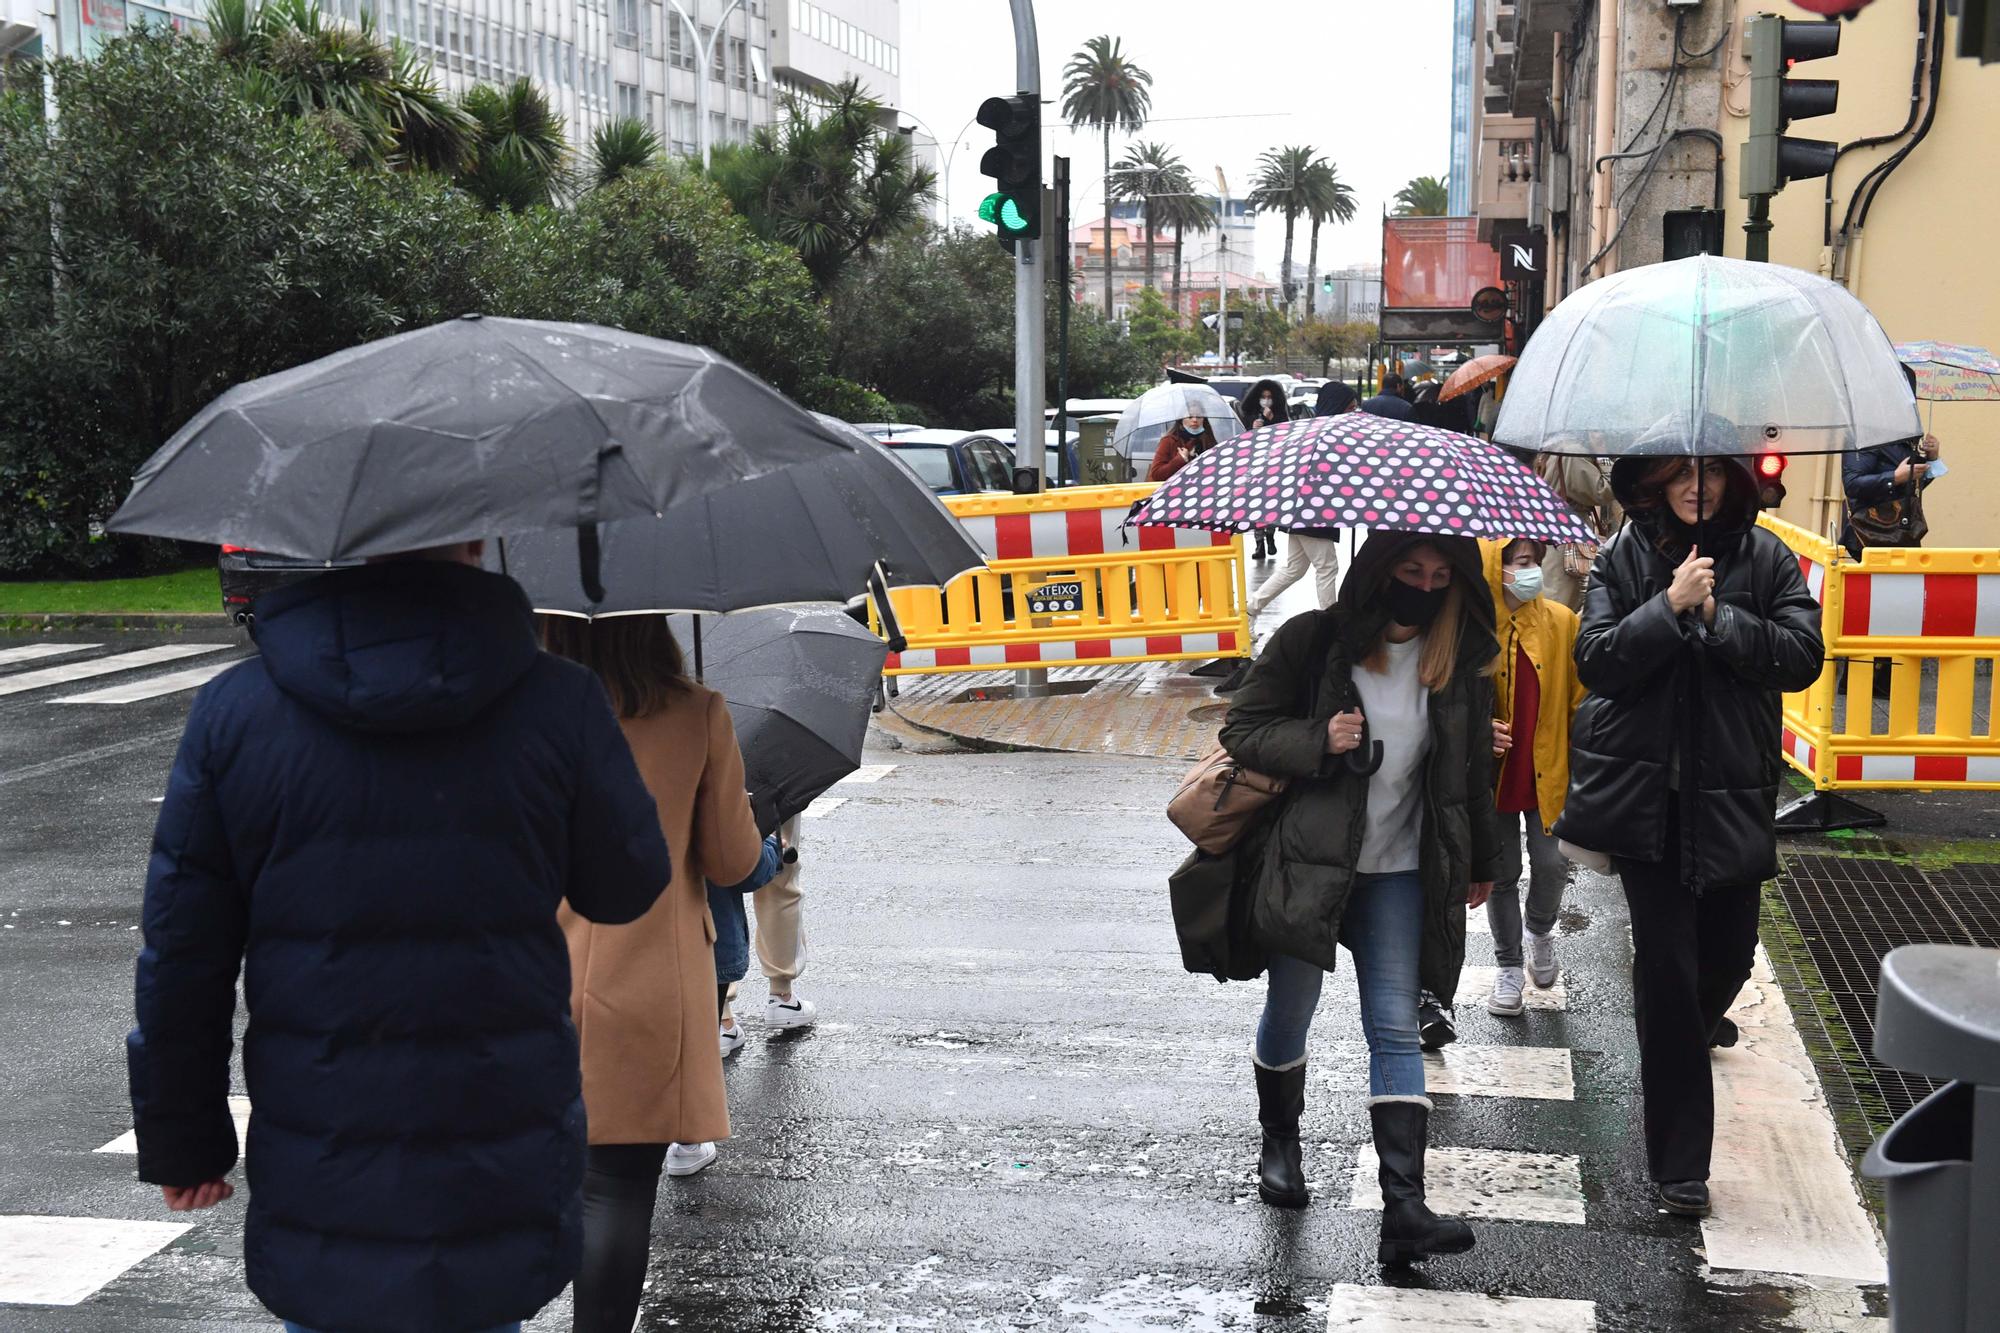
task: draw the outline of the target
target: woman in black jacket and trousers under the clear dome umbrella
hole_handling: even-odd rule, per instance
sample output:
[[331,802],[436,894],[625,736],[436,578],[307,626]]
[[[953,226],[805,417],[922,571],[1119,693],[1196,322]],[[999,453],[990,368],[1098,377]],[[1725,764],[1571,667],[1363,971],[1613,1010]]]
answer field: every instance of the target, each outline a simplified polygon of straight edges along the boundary
[[1798,558],[1756,526],[1748,460],[1668,452],[1686,436],[1686,422],[1656,428],[1640,442],[1652,452],[1612,466],[1628,526],[1584,596],[1576,673],[1590,699],[1556,835],[1608,853],[1624,881],[1646,1165],[1668,1211],[1702,1217],[1708,1047],[1732,1031],[1760,885],[1778,873],[1780,695],[1818,679],[1824,646]]

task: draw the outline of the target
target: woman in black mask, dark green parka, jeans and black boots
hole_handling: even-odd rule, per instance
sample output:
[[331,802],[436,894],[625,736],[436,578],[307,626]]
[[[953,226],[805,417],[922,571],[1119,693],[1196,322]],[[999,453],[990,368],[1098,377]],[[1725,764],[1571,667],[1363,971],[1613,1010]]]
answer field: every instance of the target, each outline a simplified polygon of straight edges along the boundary
[[1430,1099],[1416,997],[1458,991],[1466,905],[1500,863],[1492,789],[1494,602],[1464,536],[1374,532],[1330,610],[1280,628],[1236,695],[1222,747],[1288,779],[1242,845],[1250,929],[1270,951],[1252,1045],[1258,1193],[1304,1207],[1306,1033],[1336,947],[1354,957],[1380,1157],[1382,1263],[1472,1249],[1424,1205]]

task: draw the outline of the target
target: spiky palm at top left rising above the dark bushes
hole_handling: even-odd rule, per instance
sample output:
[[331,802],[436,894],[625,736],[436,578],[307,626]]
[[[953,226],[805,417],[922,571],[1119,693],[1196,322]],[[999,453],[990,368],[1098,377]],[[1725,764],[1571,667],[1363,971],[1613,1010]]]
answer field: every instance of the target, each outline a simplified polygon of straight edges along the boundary
[[314,120],[356,166],[452,172],[472,152],[472,118],[410,46],[376,36],[366,10],[350,26],[314,0],[212,0],[208,28],[250,96]]

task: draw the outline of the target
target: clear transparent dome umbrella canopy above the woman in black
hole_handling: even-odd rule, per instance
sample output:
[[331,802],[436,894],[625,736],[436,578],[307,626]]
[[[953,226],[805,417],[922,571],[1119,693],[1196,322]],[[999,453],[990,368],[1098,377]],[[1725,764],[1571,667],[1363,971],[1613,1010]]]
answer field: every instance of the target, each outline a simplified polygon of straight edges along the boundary
[[1670,418],[1732,426],[1686,452],[1842,452],[1922,434],[1888,334],[1844,286],[1696,254],[1556,306],[1514,366],[1494,442],[1616,456]]

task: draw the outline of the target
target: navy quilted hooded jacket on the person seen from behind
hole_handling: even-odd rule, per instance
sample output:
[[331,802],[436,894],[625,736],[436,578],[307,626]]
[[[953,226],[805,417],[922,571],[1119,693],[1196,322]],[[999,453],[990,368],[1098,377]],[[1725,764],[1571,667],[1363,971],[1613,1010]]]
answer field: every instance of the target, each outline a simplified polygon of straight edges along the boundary
[[580,1249],[556,905],[652,905],[652,797],[596,677],[536,646],[504,576],[322,574],[262,598],[256,640],[196,697],[154,833],[140,1179],[236,1163],[240,967],[250,1289],[340,1333],[524,1319]]

